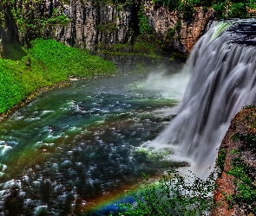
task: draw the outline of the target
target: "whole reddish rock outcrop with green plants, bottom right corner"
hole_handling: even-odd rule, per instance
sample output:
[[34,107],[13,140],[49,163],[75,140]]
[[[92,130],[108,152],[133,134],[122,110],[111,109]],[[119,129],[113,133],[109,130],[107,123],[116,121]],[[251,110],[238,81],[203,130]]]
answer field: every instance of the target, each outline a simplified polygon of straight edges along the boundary
[[233,118],[220,144],[222,172],[213,194],[217,207],[211,216],[242,216],[255,213],[255,113],[255,108],[240,111]]

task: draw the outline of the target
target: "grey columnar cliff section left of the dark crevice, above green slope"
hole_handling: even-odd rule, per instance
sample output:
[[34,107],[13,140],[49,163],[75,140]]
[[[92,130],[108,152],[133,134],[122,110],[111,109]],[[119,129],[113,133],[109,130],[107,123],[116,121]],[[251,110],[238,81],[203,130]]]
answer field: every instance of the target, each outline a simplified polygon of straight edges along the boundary
[[115,5],[93,4],[91,1],[70,0],[62,6],[69,17],[66,26],[58,25],[52,37],[67,45],[95,50],[98,44],[118,44],[128,41],[133,19],[132,7],[118,9]]

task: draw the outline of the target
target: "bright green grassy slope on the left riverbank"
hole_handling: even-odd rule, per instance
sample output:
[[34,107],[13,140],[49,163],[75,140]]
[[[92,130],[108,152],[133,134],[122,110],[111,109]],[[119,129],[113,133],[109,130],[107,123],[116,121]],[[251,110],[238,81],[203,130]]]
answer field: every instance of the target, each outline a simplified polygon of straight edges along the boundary
[[16,52],[17,44],[12,45],[10,57],[23,55],[20,60],[0,59],[0,113],[36,89],[67,80],[69,76],[93,77],[116,70],[109,61],[53,40],[36,39],[31,44],[32,48],[24,49],[23,54]]

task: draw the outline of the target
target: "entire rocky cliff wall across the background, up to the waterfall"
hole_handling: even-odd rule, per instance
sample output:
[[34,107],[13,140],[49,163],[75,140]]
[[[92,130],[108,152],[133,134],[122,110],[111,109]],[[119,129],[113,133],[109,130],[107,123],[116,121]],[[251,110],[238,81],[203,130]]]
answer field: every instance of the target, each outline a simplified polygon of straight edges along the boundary
[[[133,44],[140,35],[138,12],[141,11],[148,19],[154,38],[161,41],[162,47],[189,53],[208,20],[214,17],[213,10],[206,12],[197,8],[190,21],[180,20],[174,11],[168,11],[149,0],[132,5],[95,3],[91,0],[44,0],[30,3],[19,0],[16,9],[21,17],[19,19],[16,16],[18,32],[7,32],[19,35],[20,41],[43,35],[69,46],[92,51],[102,45],[106,48],[116,44]],[[62,22],[64,16],[69,20]],[[174,35],[168,36],[169,29],[174,29],[177,22],[181,22],[181,28],[176,29]]]

